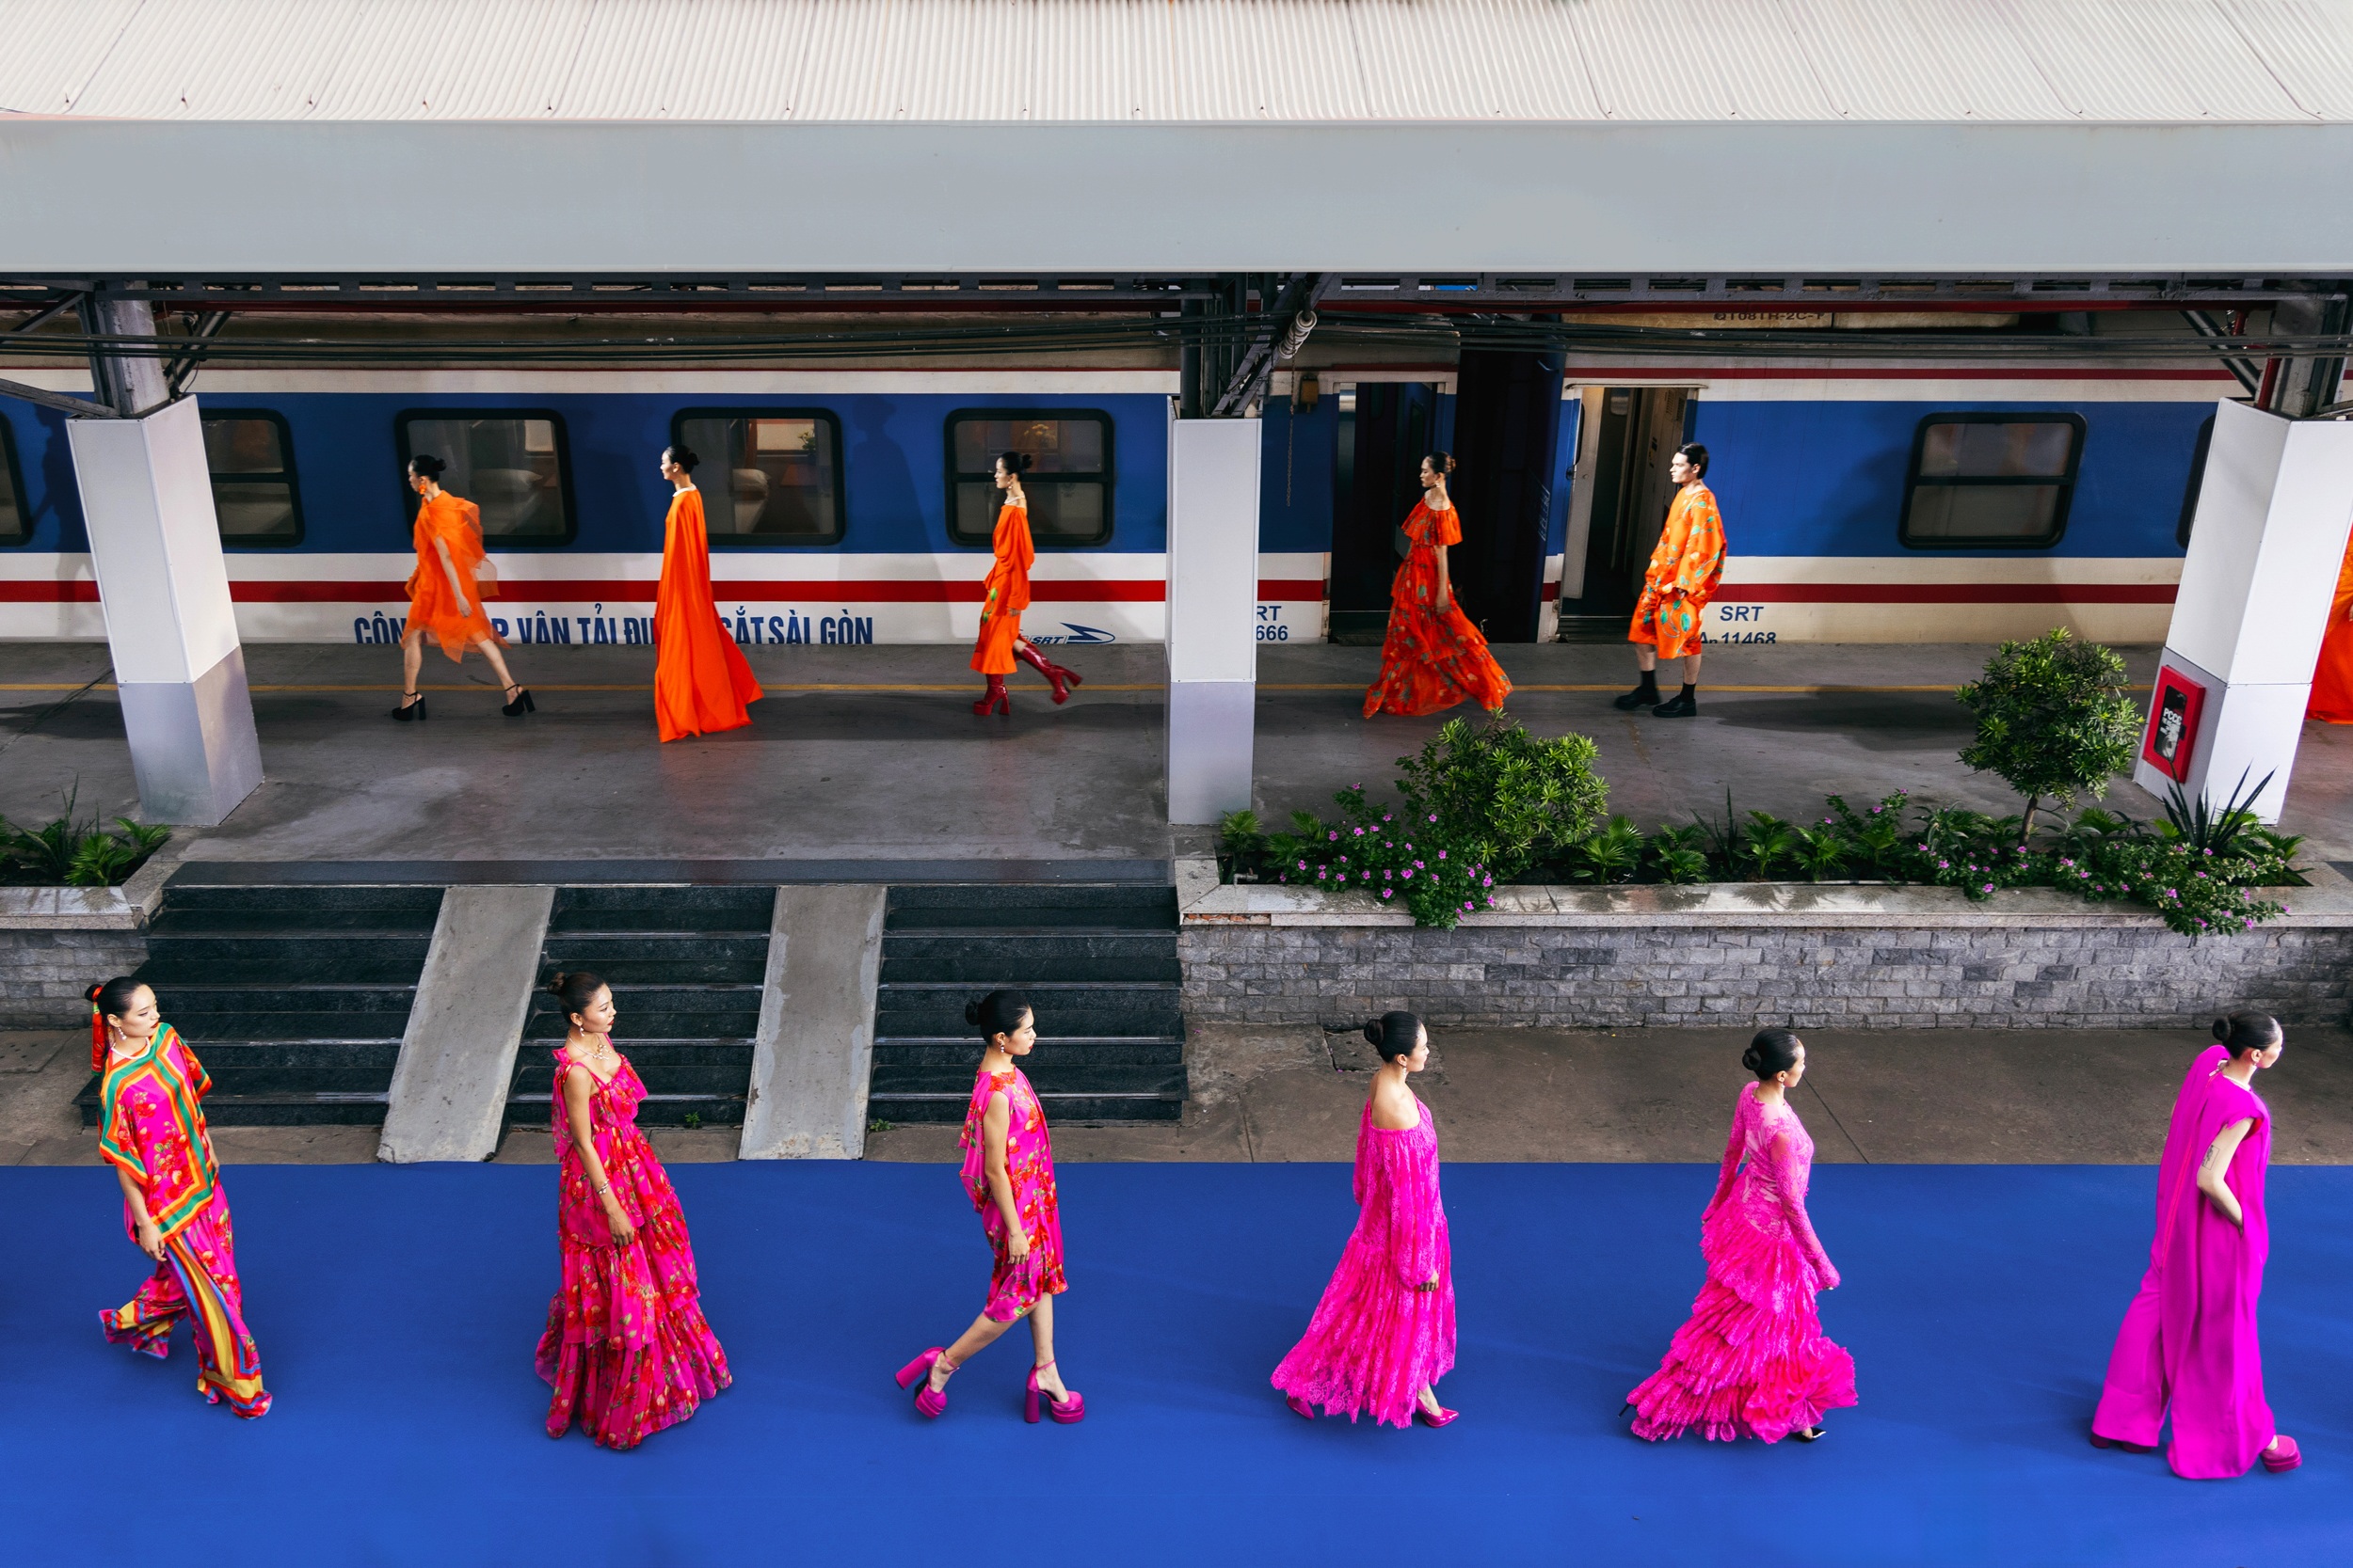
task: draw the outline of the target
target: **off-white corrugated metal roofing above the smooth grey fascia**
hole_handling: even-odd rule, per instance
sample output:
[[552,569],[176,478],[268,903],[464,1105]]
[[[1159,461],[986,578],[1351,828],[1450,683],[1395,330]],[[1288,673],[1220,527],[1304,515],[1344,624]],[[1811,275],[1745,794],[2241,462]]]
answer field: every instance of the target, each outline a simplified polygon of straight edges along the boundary
[[2353,120],[2348,0],[0,0],[129,120]]

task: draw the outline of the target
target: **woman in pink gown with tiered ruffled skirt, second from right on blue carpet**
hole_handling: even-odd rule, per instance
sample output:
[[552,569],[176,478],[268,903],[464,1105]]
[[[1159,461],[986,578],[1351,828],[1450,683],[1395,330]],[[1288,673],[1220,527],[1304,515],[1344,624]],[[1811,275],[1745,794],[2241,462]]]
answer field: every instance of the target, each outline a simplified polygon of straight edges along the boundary
[[1805,1218],[1814,1140],[1788,1103],[1805,1077],[1805,1041],[1758,1030],[1741,1056],[1741,1088],[1725,1168],[1699,1220],[1708,1281],[1666,1359],[1626,1396],[1635,1436],[1821,1436],[1824,1410],[1854,1403],[1854,1356],[1821,1333],[1814,1295],[1838,1269]]

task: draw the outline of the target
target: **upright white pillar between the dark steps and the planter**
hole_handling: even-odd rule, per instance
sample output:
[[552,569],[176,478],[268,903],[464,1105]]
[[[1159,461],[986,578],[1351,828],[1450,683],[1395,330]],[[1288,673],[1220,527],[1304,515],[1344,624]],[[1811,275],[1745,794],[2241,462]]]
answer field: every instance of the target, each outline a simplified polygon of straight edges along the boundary
[[1259,421],[1169,423],[1169,823],[1247,811],[1259,705]]

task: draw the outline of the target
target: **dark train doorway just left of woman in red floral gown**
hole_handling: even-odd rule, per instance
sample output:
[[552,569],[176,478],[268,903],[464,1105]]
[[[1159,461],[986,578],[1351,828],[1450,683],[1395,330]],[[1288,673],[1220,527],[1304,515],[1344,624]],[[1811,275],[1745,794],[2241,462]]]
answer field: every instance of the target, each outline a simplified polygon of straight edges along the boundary
[[1332,642],[1381,642],[1405,559],[1400,524],[1421,498],[1421,454],[1438,444],[1438,386],[1358,381],[1332,397]]

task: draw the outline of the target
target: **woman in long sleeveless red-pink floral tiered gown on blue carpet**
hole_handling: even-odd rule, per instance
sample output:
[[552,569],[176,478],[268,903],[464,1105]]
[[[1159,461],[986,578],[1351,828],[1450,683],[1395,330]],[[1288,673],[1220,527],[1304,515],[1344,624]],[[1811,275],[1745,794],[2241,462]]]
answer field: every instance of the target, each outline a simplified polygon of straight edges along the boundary
[[635,1448],[734,1378],[704,1321],[687,1215],[638,1131],[645,1084],[612,1048],[612,990],[591,973],[560,973],[548,990],[572,1020],[548,1117],[562,1253],[562,1288],[539,1335],[539,1375],[555,1387],[548,1436],[576,1415],[600,1446]]

